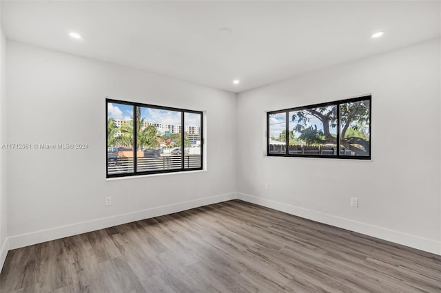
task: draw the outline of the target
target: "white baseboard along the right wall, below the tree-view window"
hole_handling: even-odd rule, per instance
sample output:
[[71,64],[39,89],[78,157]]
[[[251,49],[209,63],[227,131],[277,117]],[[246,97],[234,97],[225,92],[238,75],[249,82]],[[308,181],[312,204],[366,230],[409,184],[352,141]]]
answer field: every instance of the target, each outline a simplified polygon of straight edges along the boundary
[[393,243],[402,244],[418,250],[431,252],[433,254],[441,255],[441,242],[434,241],[432,239],[426,239],[415,235],[409,235],[403,232],[390,230],[378,226],[365,224],[359,221],[353,221],[343,217],[320,213],[315,210],[308,210],[307,208],[300,208],[298,206],[291,206],[290,204],[284,204],[282,202],[275,202],[271,199],[264,199],[262,197],[255,197],[253,195],[247,195],[245,193],[237,193],[237,198],[245,202],[251,202],[252,204],[258,204],[259,206],[266,206],[267,208],[274,208],[274,210],[280,210],[282,212],[296,215],[305,219],[318,221],[323,224],[336,226],[346,230],[359,232],[371,237],[380,238],[383,240],[391,241]]

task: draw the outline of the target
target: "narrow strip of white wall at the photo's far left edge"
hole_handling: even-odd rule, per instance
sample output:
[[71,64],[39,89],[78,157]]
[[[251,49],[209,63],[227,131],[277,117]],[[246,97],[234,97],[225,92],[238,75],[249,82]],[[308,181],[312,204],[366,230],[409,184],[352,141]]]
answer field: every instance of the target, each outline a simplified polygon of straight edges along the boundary
[[1,149],[2,144],[6,144],[7,136],[7,102],[6,102],[6,38],[0,27],[0,268],[6,259],[8,252],[7,240],[7,175],[6,164],[8,159],[8,149]]

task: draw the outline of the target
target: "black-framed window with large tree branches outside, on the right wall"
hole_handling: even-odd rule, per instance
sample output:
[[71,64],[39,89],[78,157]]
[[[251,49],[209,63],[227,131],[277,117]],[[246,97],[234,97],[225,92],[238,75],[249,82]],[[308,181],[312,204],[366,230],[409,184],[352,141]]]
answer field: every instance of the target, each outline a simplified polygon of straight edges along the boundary
[[371,96],[267,113],[267,155],[371,159]]

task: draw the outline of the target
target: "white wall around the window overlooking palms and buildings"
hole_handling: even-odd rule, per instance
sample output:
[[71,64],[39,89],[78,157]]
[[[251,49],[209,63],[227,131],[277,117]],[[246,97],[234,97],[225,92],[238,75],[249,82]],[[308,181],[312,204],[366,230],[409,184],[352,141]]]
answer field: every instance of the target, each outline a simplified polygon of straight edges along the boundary
[[[236,198],[236,96],[8,41],[10,249]],[[206,111],[207,171],[105,179],[105,97]],[[112,196],[112,206],[105,206]]]

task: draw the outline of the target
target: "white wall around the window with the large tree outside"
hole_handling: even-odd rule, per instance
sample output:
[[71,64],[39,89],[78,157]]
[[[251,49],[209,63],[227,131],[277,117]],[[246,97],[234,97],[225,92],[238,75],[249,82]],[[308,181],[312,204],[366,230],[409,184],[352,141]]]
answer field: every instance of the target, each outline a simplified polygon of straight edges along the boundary
[[[433,40],[239,94],[238,198],[441,254],[440,61]],[[264,155],[265,111],[370,93],[371,161]]]

